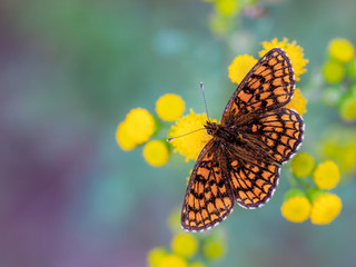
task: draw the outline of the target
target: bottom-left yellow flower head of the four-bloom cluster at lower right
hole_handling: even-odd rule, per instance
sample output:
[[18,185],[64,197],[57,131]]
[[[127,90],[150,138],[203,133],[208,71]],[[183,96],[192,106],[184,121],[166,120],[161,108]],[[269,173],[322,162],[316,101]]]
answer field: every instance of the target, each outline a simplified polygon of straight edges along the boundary
[[312,205],[305,194],[298,189],[291,189],[286,194],[280,207],[283,217],[293,222],[303,222],[310,215]]

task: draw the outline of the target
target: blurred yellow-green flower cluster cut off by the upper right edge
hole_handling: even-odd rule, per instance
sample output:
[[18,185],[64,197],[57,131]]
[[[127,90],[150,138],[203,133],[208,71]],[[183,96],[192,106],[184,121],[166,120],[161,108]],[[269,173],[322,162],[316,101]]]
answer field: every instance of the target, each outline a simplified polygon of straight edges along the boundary
[[333,39],[327,48],[328,58],[323,77],[334,85],[323,91],[322,100],[338,108],[342,119],[356,120],[356,58],[354,44],[344,38]]

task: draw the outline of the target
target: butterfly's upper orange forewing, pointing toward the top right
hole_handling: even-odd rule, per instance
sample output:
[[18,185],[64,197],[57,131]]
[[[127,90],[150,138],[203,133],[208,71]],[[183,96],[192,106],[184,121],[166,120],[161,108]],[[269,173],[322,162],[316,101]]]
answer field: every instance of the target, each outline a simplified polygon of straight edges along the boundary
[[295,87],[290,60],[280,48],[267,52],[247,73],[228,101],[221,125],[238,123],[247,115],[289,102]]

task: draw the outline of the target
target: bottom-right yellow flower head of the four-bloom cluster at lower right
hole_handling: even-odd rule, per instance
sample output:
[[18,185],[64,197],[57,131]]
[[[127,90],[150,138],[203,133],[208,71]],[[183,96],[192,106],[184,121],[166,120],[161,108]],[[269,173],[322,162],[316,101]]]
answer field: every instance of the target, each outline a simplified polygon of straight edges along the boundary
[[330,224],[342,211],[342,199],[334,194],[322,194],[312,205],[310,220],[314,225]]

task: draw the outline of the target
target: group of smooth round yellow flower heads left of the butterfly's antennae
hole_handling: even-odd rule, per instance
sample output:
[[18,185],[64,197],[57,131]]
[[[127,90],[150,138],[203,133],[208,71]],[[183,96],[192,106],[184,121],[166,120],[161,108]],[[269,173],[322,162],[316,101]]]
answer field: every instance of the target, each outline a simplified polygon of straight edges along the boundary
[[184,100],[177,95],[166,93],[156,102],[158,117],[154,117],[144,108],[132,109],[118,125],[116,141],[126,151],[145,145],[142,155],[146,161],[154,167],[164,166],[169,159],[169,144],[166,141],[166,137],[148,140],[159,131],[161,123],[178,119],[184,111]]

